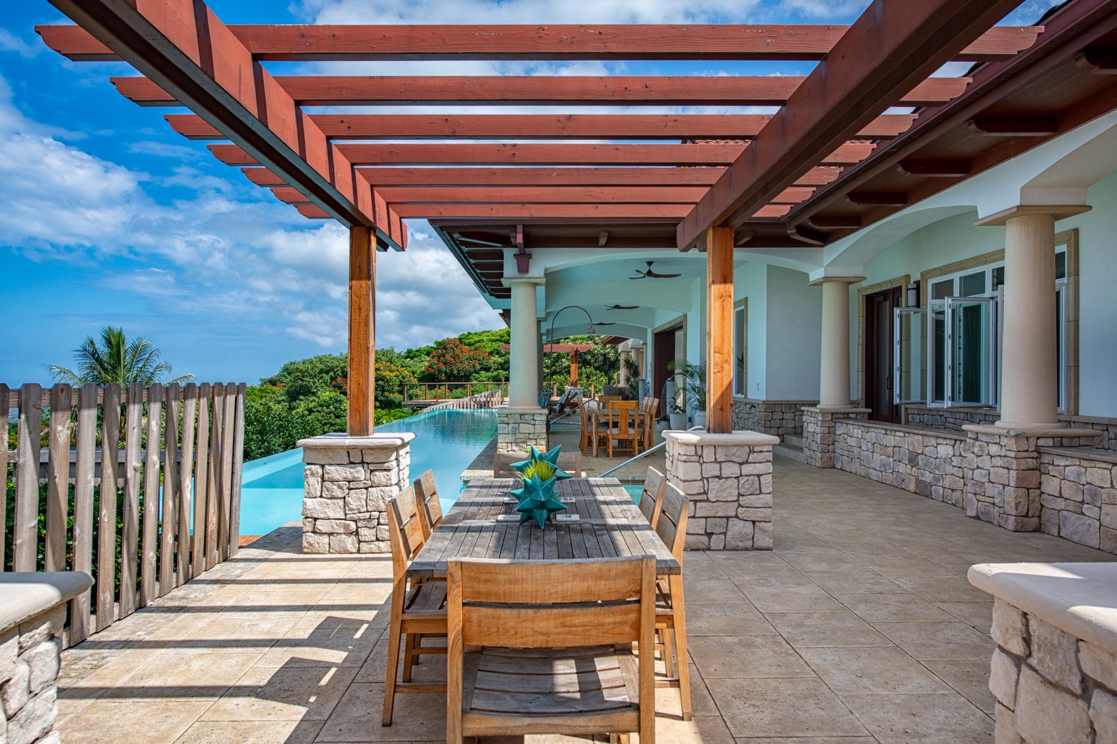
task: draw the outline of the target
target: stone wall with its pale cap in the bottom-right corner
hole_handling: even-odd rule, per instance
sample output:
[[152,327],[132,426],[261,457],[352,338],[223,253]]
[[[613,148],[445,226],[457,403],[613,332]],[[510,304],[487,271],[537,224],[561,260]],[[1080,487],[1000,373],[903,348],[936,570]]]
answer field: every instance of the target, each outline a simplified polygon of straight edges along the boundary
[[984,563],[970,581],[995,598],[997,744],[1117,742],[1117,569]]

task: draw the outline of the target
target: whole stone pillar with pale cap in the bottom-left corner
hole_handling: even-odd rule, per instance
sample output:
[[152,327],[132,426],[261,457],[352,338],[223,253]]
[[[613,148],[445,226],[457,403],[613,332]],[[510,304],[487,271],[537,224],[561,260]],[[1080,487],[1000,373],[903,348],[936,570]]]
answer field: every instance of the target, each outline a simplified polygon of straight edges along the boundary
[[66,602],[92,584],[88,573],[0,573],[0,742],[60,742],[55,680]]

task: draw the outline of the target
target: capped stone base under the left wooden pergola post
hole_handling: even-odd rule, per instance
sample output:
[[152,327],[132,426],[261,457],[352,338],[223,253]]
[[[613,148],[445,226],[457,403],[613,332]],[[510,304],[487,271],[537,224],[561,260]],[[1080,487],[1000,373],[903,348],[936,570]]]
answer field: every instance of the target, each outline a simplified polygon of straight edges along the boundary
[[302,439],[303,552],[390,553],[388,502],[409,483],[410,432]]

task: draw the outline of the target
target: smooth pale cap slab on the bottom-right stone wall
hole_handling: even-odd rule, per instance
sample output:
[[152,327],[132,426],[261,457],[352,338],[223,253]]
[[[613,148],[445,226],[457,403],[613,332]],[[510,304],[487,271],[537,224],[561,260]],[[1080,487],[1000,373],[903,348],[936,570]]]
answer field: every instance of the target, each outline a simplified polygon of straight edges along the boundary
[[1117,654],[1117,563],[978,563],[970,583]]

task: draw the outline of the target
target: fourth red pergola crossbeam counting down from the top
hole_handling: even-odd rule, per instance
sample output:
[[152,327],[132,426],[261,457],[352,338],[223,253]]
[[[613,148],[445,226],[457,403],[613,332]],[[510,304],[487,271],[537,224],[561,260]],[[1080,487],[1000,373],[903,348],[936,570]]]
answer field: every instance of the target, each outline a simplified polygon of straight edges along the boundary
[[[226,165],[257,165],[237,145],[209,145]],[[743,144],[703,145],[337,145],[354,165],[728,165]],[[859,163],[872,143],[847,143],[820,158],[827,165]]]

